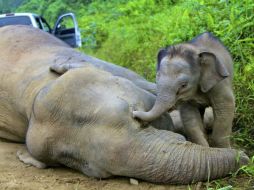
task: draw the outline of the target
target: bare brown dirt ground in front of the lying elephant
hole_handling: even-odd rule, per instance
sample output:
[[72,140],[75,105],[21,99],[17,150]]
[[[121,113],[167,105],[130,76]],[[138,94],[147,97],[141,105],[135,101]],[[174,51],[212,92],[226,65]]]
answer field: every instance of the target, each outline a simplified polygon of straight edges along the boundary
[[[129,178],[98,180],[69,168],[37,169],[16,157],[22,144],[0,142],[0,190],[185,190],[188,186],[156,185],[139,181],[132,185]],[[191,189],[200,189],[200,184]]]

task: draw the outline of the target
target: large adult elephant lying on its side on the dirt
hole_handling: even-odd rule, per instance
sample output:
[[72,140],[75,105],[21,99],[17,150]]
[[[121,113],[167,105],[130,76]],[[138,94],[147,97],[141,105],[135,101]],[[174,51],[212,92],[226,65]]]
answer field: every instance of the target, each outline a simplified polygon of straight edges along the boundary
[[142,128],[132,110],[150,109],[155,97],[127,79],[90,64],[50,72],[60,55],[71,55],[70,62],[82,55],[49,34],[9,26],[0,35],[0,137],[26,141],[28,151],[18,153],[23,162],[180,184],[223,177],[248,162],[242,152],[153,127],[170,129],[168,115]]

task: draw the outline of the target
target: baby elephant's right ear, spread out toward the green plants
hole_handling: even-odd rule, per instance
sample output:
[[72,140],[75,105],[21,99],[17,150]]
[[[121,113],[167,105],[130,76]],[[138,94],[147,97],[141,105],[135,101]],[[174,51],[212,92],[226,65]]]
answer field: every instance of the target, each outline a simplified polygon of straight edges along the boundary
[[226,66],[211,52],[199,54],[201,66],[200,86],[202,92],[208,92],[218,82],[229,76]]

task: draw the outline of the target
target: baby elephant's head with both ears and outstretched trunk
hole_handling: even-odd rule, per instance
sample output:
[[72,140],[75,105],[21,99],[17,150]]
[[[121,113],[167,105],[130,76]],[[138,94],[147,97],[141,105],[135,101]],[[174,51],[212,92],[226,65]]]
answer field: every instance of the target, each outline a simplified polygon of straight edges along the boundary
[[229,76],[213,51],[190,43],[161,49],[157,59],[156,102],[148,112],[133,112],[135,118],[143,121],[156,119],[177,102],[190,100],[198,91],[207,93]]

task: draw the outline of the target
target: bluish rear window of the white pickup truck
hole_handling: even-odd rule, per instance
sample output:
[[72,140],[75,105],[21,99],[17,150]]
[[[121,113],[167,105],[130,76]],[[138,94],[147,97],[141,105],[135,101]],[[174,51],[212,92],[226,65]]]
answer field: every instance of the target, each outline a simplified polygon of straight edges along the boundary
[[15,17],[3,17],[0,18],[0,27],[6,25],[32,25],[32,22],[28,16],[15,16]]

